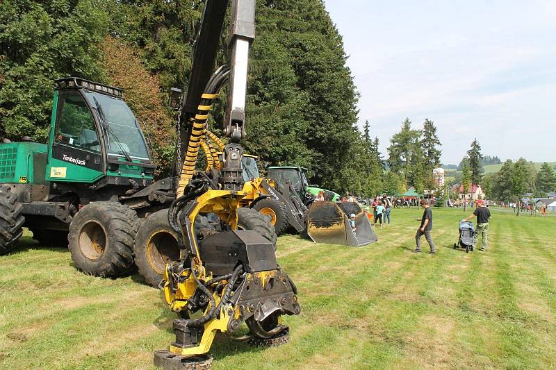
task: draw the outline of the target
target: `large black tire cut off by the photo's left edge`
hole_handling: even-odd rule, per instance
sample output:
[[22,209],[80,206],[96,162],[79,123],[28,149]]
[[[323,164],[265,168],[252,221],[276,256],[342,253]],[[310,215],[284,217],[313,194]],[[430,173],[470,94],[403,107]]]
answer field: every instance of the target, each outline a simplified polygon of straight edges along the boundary
[[0,255],[13,249],[17,239],[23,235],[24,222],[17,195],[13,194],[11,187],[0,187]]

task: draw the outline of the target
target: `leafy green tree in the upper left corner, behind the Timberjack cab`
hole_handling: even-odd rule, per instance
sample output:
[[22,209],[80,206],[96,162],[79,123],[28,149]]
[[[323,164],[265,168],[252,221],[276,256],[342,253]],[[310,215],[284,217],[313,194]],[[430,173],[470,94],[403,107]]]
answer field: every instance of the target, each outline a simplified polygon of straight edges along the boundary
[[103,81],[97,44],[106,13],[95,0],[4,0],[0,24],[0,136],[44,141],[53,80]]

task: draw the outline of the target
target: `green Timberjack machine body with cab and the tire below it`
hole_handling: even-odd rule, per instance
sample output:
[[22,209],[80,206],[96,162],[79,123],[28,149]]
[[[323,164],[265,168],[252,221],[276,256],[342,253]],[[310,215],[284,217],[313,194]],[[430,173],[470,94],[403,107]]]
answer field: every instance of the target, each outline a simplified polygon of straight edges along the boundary
[[155,167],[122,90],[57,80],[48,143],[0,144],[0,254],[26,226],[42,245],[69,241],[88,274],[126,274],[139,218],[175,199],[174,180],[155,183]]

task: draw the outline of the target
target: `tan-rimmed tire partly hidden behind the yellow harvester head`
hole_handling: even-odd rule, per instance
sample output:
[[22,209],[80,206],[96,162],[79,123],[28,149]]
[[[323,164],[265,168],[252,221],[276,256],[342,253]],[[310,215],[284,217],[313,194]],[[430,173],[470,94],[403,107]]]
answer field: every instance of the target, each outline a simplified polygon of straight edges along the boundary
[[[197,239],[215,231],[208,218],[198,215],[195,218]],[[178,246],[178,235],[168,222],[168,210],[159,210],[149,215],[137,231],[135,245],[135,263],[145,283],[159,287],[167,262],[177,261],[186,256]]]

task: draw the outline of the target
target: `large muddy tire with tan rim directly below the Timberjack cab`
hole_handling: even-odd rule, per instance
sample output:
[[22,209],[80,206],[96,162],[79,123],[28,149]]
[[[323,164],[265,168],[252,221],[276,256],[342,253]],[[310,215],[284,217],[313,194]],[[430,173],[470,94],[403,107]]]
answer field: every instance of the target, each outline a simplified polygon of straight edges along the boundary
[[95,202],[76,213],[67,239],[75,266],[85,274],[117,278],[129,274],[139,227],[134,210],[117,202]]

